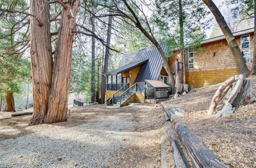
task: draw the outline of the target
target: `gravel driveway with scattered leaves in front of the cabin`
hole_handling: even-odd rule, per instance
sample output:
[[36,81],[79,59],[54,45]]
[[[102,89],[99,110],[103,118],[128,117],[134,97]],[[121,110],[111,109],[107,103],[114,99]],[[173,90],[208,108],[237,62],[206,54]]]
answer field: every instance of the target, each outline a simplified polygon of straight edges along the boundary
[[159,167],[160,106],[72,108],[68,122],[1,120],[0,167]]

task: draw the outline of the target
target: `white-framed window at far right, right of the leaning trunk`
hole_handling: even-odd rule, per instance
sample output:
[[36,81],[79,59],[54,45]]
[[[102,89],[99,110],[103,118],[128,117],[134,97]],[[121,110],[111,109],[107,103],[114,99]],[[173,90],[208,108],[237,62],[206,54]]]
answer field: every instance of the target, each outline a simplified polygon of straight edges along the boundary
[[250,63],[250,35],[241,36],[241,52],[245,63]]

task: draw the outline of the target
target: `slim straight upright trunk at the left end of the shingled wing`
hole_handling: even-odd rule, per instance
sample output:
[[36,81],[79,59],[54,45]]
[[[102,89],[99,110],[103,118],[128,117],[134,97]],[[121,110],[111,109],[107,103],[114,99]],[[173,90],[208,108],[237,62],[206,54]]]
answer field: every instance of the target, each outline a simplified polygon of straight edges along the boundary
[[[183,64],[184,60],[184,25],[183,25],[183,13],[182,13],[182,4],[181,0],[179,0],[179,25],[180,25],[180,62]],[[184,64],[181,66],[180,73],[180,83],[184,83],[183,72],[184,72]]]

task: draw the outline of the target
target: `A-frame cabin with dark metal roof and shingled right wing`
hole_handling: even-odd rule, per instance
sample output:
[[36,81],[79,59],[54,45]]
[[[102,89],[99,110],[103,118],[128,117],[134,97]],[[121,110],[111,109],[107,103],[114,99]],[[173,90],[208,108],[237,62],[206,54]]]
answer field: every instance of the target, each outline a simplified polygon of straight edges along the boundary
[[[253,58],[253,33],[254,29],[233,33],[249,70]],[[201,88],[223,82],[238,74],[224,36],[203,40],[200,48],[203,50],[186,48],[187,84]],[[162,49],[167,53],[166,45]],[[168,59],[173,75],[176,75],[177,60],[180,60],[179,52]],[[163,60],[155,46],[124,54],[119,67],[104,74],[107,76],[106,104],[123,106],[130,102],[157,103],[168,98],[173,86],[170,85],[162,64]]]

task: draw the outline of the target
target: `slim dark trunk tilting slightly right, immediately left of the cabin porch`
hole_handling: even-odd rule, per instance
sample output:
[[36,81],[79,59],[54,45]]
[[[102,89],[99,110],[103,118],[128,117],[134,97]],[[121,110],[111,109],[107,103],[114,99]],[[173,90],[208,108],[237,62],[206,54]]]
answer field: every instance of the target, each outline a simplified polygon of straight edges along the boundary
[[[109,17],[109,21],[108,21],[108,35],[106,37],[106,46],[110,46],[110,40],[111,40],[111,30],[112,30],[112,20],[113,17],[110,16]],[[109,67],[109,52],[110,49],[106,48],[105,49],[105,58],[104,58],[104,67],[103,67],[103,74],[108,72],[108,67]],[[101,80],[101,94],[100,94],[100,98],[101,100],[105,100],[105,91],[106,91],[106,76],[102,76],[102,80]]]

